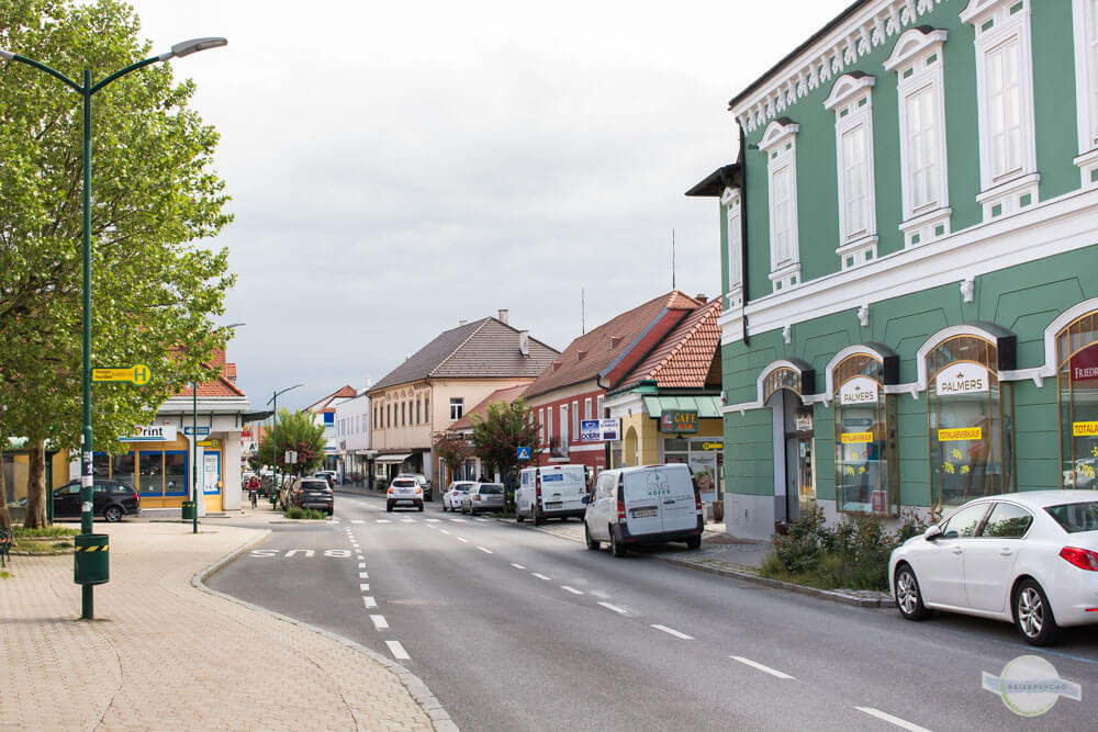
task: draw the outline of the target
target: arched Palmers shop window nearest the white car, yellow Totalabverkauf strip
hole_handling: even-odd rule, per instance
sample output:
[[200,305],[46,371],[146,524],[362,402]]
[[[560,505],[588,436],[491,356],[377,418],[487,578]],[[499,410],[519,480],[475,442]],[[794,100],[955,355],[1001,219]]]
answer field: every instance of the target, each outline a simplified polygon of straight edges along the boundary
[[935,511],[1013,491],[1013,404],[998,348],[954,336],[927,354],[931,500]]

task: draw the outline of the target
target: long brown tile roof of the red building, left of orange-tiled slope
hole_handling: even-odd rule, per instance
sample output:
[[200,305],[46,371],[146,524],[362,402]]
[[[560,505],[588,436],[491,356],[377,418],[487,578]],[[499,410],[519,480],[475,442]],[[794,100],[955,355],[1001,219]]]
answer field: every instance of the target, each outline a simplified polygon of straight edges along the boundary
[[649,328],[669,312],[693,311],[699,304],[693,297],[674,290],[621,313],[569,344],[557,359],[558,368],[546,369],[545,373],[534,380],[527,387],[527,396],[545,394],[604,374],[629,353]]

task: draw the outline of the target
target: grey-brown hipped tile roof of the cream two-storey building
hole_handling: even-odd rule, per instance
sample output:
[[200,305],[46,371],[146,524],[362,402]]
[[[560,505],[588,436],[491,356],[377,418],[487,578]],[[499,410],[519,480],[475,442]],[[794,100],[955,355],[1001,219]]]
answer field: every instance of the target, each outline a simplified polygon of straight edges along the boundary
[[530,354],[518,350],[518,330],[494,317],[444,330],[393,369],[370,393],[424,379],[537,376],[558,351],[530,338]]

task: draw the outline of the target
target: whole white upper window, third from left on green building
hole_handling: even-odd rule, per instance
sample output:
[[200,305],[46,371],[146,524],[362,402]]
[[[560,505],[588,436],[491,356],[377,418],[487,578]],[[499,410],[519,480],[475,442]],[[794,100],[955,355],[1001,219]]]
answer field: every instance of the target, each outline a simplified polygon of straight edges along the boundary
[[839,255],[843,270],[877,255],[876,201],[873,183],[873,85],[855,71],[836,80],[824,109],[834,112],[839,170]]

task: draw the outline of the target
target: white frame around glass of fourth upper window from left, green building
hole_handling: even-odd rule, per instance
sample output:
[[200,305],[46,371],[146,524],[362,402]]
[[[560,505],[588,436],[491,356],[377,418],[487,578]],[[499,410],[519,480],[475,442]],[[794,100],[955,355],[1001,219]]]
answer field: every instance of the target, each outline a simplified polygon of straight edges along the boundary
[[[950,235],[949,160],[945,146],[945,77],[943,54],[948,32],[941,29],[914,27],[896,41],[884,67],[895,71],[899,102],[900,190],[903,191],[904,246],[917,247]],[[915,171],[911,169],[908,132],[908,101],[929,90],[934,112],[934,154],[937,155],[935,201],[915,206]]]

